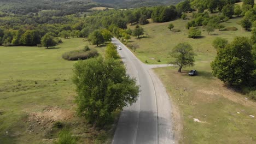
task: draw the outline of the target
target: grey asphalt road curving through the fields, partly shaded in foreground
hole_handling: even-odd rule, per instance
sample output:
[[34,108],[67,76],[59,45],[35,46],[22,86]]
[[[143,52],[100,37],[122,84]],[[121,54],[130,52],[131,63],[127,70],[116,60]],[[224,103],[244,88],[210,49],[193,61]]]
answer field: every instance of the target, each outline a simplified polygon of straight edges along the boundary
[[174,143],[170,100],[164,85],[150,70],[166,65],[143,64],[118,39],[113,38],[112,43],[122,47],[118,52],[127,74],[141,86],[137,102],[121,112],[112,143]]

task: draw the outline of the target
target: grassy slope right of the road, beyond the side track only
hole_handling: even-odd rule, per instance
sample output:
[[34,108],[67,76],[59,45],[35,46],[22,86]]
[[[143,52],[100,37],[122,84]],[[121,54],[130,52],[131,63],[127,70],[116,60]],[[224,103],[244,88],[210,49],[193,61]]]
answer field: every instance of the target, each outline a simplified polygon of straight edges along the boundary
[[[191,13],[188,14],[188,18],[191,19]],[[195,60],[199,61],[210,61],[216,56],[216,50],[212,46],[212,41],[216,37],[223,37],[231,41],[235,36],[249,36],[251,33],[242,29],[240,25],[237,24],[241,21],[241,17],[230,19],[228,22],[222,23],[226,27],[235,26],[238,31],[218,31],[216,29],[214,32],[207,35],[207,32],[203,28],[202,30],[203,38],[200,39],[190,39],[188,38],[188,29],[185,28],[186,23],[189,20],[178,19],[171,22],[165,23],[149,23],[148,25],[141,26],[144,28],[144,36],[146,38],[135,39],[132,37],[131,44],[135,43],[139,45],[136,50],[135,55],[141,59],[142,62],[148,61],[148,64],[161,64],[168,63],[171,61],[169,53],[178,43],[187,42],[193,46],[194,52],[197,54]],[[170,31],[167,27],[169,23],[173,23],[174,29],[179,29],[181,32],[174,33]],[[129,26],[134,29],[135,26]],[[161,62],[158,62],[160,59]]]

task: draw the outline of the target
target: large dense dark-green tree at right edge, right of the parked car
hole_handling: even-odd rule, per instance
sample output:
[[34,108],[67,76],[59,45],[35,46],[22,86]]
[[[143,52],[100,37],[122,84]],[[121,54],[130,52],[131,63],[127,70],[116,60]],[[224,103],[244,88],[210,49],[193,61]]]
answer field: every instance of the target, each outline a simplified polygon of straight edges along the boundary
[[219,49],[211,63],[213,75],[230,85],[245,83],[253,70],[252,45],[246,37],[236,37],[224,49]]

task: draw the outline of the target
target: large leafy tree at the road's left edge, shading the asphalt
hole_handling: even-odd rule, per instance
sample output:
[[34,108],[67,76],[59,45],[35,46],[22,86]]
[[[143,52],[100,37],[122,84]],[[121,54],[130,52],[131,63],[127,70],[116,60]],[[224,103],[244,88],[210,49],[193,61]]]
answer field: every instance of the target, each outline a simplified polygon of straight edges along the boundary
[[127,76],[123,64],[112,58],[91,58],[74,65],[77,112],[88,122],[105,124],[112,113],[135,103],[139,87]]

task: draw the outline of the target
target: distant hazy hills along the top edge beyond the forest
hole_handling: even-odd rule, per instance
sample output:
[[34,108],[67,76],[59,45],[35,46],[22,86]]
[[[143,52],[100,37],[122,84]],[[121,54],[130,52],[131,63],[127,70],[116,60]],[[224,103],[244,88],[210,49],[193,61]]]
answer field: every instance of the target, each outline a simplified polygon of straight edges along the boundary
[[41,10],[57,10],[56,16],[88,11],[94,7],[137,8],[177,4],[183,0],[0,0],[0,11],[26,15]]

